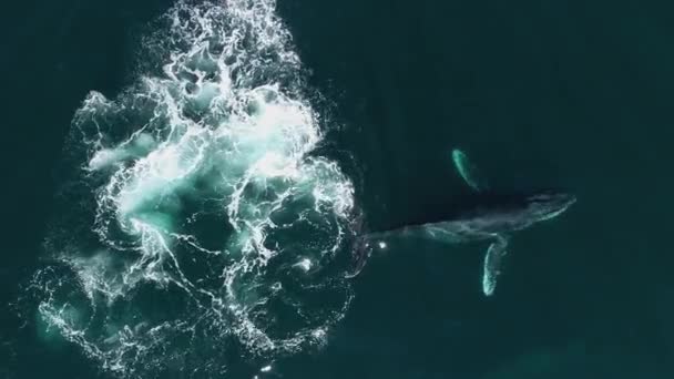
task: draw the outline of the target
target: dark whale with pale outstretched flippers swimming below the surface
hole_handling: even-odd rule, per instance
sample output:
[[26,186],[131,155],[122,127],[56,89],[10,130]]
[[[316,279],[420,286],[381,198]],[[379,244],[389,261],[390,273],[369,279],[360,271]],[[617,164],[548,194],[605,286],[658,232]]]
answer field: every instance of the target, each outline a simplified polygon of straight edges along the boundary
[[428,215],[421,222],[359,236],[354,247],[351,277],[362,270],[374,244],[386,246],[389,238],[419,237],[450,244],[491,240],[482,274],[482,291],[491,296],[511,234],[556,217],[575,203],[574,195],[554,188],[518,194],[491,192],[487,181],[478,175],[476,166],[463,152],[455,150],[452,160],[457,172],[474,191],[479,201],[452,212]]

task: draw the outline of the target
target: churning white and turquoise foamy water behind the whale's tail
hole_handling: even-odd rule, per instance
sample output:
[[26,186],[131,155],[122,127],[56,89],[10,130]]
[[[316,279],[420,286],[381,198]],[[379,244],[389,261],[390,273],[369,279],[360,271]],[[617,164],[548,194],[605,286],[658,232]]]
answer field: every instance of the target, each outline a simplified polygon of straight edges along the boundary
[[321,120],[274,11],[180,2],[137,81],[73,119],[31,288],[45,335],[105,371],[266,375],[348,308],[354,186],[313,154]]

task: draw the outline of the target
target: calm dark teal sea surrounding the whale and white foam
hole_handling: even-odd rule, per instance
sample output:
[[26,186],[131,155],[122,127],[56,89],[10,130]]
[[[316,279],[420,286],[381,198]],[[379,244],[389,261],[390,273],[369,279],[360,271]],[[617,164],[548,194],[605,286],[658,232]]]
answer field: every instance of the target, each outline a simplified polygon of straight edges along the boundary
[[[76,207],[54,199],[69,183],[54,170],[71,146],[73,114],[89,91],[114,99],[157,65],[142,41],[172,3],[17,7],[3,12],[0,61],[0,372],[114,377],[58,330],[45,334],[44,299],[27,294],[34,273],[53,267],[42,244],[54,212]],[[259,373],[267,357],[228,340],[204,347],[204,332],[196,344],[166,344],[166,356],[181,346],[195,352],[161,361],[156,375],[670,378],[671,11],[657,2],[279,1],[309,71],[304,91],[323,95],[307,95],[327,124],[317,154],[353,181],[368,225],[405,223],[466,195],[451,165],[457,146],[497,188],[560,185],[579,201],[513,237],[491,298],[480,291],[484,244],[400,242],[350,284],[353,300],[325,346],[275,356],[272,372]],[[171,291],[161,294],[157,313],[180,315],[181,303],[167,307]],[[325,303],[341,295],[333,296]],[[274,325],[284,325],[278,315]],[[222,376],[192,371],[218,361],[227,362]]]

